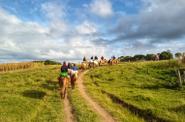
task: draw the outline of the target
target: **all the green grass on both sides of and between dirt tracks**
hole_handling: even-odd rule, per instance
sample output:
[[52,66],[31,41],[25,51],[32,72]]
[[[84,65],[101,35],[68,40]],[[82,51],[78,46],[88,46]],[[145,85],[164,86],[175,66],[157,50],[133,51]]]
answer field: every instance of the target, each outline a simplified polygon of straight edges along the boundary
[[[177,86],[175,61],[122,63],[90,69],[88,94],[120,122],[185,121],[185,86]],[[63,122],[59,66],[0,73],[0,122]],[[100,122],[80,95],[68,89],[78,122]]]

